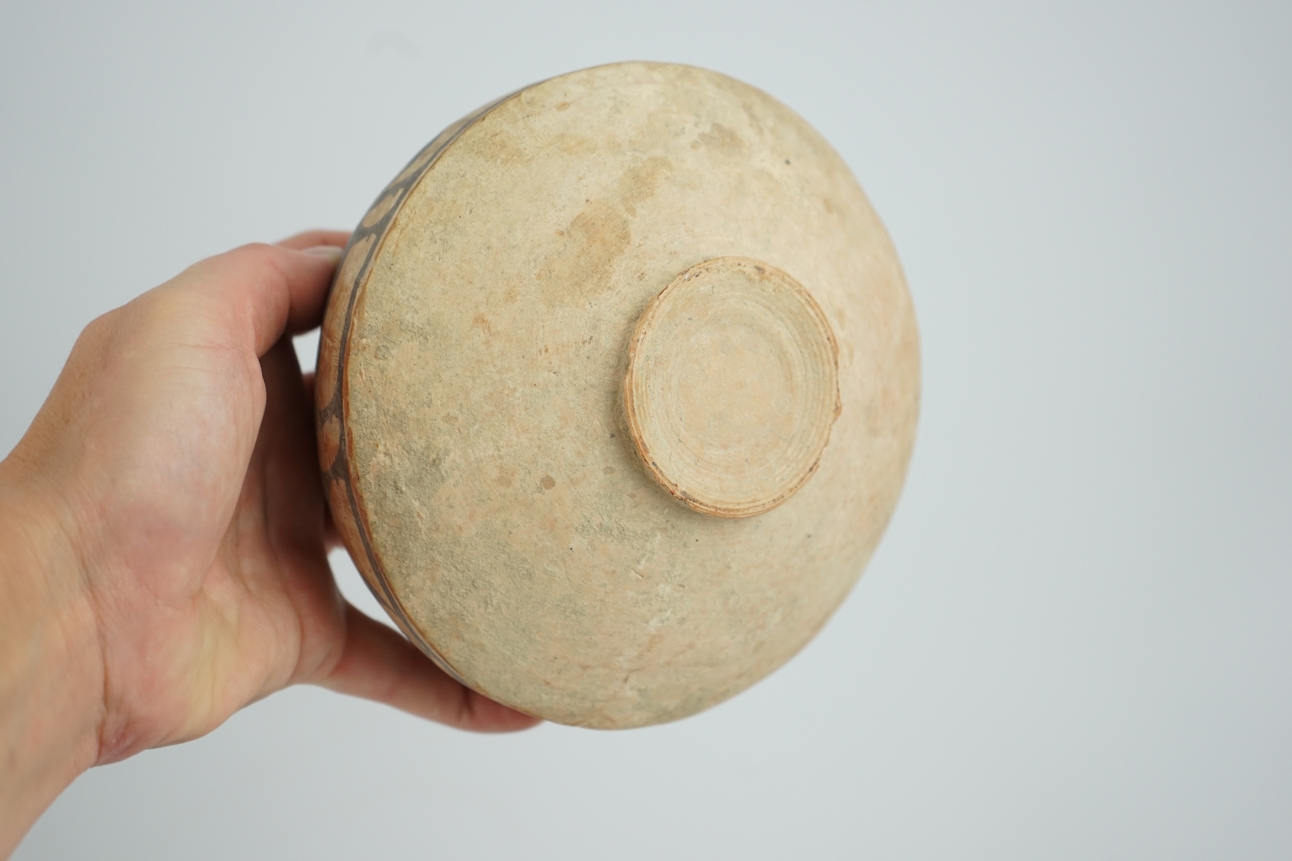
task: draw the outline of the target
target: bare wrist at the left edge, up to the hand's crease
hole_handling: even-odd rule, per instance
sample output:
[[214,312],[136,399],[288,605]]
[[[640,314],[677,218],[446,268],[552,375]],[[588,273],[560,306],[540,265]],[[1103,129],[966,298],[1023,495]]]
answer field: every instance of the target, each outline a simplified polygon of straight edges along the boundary
[[98,755],[103,670],[54,494],[0,462],[0,858]]

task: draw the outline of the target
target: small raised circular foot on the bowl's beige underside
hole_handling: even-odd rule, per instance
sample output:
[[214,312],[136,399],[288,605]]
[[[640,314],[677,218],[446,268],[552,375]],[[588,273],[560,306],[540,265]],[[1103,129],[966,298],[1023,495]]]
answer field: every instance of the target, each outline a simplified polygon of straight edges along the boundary
[[628,347],[624,405],[647,471],[691,509],[744,518],[817,471],[839,416],[835,334],[782,270],[716,257],[651,301]]

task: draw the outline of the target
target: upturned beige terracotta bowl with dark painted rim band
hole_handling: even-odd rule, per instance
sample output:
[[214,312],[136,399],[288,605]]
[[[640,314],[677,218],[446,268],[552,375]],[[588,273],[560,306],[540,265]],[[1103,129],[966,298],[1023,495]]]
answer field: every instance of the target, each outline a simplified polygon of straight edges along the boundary
[[620,63],[430,142],[355,230],[318,363],[355,565],[464,684],[587,727],[784,663],[860,576],[915,435],[897,256],[766,93]]

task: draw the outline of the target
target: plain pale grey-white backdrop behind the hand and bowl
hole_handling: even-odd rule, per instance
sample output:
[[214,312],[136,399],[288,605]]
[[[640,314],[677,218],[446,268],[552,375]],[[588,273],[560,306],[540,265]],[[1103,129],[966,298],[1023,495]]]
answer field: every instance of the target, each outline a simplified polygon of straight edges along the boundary
[[1292,857],[1289,44],[1282,0],[0,0],[0,452],[96,315],[618,59],[835,143],[925,373],[866,577],[735,700],[475,737],[296,688],[87,773],[16,857]]

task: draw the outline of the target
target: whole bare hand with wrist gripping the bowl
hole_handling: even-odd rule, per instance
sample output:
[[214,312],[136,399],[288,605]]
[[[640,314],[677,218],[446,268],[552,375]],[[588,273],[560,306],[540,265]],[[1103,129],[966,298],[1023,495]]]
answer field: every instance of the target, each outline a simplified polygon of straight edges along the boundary
[[464,729],[536,723],[332,578],[291,336],[319,324],[345,240],[247,245],[98,318],[0,462],[0,858],[87,768],[289,684]]

